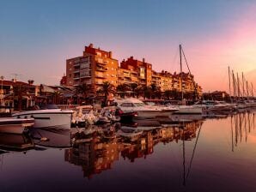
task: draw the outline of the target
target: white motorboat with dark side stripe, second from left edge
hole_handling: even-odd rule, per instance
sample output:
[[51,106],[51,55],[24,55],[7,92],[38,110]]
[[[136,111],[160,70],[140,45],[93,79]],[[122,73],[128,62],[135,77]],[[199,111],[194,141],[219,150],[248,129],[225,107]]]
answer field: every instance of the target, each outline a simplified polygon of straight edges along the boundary
[[34,118],[34,128],[70,129],[72,110],[47,109],[13,114],[15,118]]

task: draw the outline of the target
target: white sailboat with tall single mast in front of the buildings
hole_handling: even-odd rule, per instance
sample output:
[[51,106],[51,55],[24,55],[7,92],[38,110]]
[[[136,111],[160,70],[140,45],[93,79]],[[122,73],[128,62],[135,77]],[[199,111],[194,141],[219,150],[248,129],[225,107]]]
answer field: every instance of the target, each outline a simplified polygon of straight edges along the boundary
[[[186,114],[186,115],[202,115],[203,113],[203,108],[201,106],[198,106],[198,105],[186,105],[186,103],[184,102],[184,90],[183,90],[183,71],[182,71],[182,55],[184,56],[185,58],[185,61],[186,61],[186,57],[185,57],[185,54],[184,54],[184,51],[180,45],[180,75],[181,75],[181,103],[182,105],[179,105],[179,111],[175,111],[174,114]],[[186,62],[186,66],[187,66],[187,69],[189,71],[189,75],[191,75],[191,71],[188,67],[188,64]],[[193,81],[193,80],[192,80]],[[194,88],[196,89],[196,85],[195,85],[195,82],[193,81],[193,86]]]

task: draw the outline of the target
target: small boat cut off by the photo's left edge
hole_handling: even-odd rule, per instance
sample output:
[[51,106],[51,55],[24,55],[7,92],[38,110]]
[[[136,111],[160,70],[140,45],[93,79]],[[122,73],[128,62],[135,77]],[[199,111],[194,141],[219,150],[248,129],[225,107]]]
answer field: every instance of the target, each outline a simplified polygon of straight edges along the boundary
[[0,132],[9,134],[22,134],[27,128],[34,125],[34,118],[1,118]]

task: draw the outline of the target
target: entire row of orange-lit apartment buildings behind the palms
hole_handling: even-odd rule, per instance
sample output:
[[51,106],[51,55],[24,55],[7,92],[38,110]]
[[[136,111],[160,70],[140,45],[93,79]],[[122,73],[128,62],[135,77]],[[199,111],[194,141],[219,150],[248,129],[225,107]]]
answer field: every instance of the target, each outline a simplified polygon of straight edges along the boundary
[[[181,81],[182,78],[182,81]],[[102,51],[90,44],[85,46],[81,57],[66,60],[66,77],[62,80],[68,87],[76,87],[86,83],[92,86],[95,93],[104,81],[109,81],[114,87],[120,84],[137,83],[150,86],[155,84],[161,91],[182,89],[186,92],[194,92],[202,95],[202,88],[194,83],[193,75],[188,73],[173,75],[168,71],[155,72],[152,64],[129,57],[124,59],[119,66],[119,61],[113,58],[112,51]],[[195,86],[196,88],[195,88]]]

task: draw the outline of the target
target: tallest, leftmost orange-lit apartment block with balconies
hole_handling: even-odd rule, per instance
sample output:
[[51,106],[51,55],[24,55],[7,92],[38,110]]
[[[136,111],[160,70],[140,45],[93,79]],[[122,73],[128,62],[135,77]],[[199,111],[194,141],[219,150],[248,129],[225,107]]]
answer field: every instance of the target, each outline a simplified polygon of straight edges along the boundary
[[66,61],[66,85],[76,87],[86,83],[92,86],[95,93],[104,81],[118,86],[119,62],[112,56],[112,51],[94,48],[93,44],[85,46],[81,57]]

